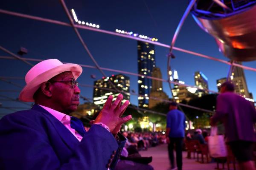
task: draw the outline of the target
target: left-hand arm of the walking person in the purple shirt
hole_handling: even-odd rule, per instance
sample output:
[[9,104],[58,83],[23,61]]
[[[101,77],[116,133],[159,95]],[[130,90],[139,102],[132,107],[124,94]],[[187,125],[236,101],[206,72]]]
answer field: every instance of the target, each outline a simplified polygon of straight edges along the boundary
[[224,116],[229,112],[229,104],[226,99],[224,99],[223,95],[219,95],[217,97],[216,103],[216,112],[214,116],[211,117],[210,122],[212,126],[215,126]]

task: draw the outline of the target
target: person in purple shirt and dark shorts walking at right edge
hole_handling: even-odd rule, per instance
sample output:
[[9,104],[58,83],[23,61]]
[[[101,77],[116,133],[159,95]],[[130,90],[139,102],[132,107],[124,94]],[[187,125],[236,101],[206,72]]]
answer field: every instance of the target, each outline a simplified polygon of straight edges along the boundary
[[214,126],[218,121],[224,123],[226,142],[239,161],[240,170],[255,170],[253,148],[256,111],[253,103],[234,93],[232,82],[221,85],[221,94],[217,97],[216,113],[211,118]]

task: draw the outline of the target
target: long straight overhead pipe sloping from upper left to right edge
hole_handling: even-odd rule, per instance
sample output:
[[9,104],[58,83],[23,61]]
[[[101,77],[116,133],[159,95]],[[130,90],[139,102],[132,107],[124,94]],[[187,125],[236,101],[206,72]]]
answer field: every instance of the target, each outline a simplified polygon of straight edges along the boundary
[[[47,19],[47,18],[36,17],[36,16],[32,16],[32,15],[27,15],[27,14],[21,14],[21,13],[7,11],[7,10],[3,10],[3,9],[0,9],[0,13],[71,27],[71,25],[69,23],[64,23],[64,22],[61,22],[61,21],[58,21],[58,20],[50,20],[50,19]],[[75,27],[90,30],[90,31],[101,32],[101,33],[105,33],[105,34],[111,34],[111,35],[114,35],[114,36],[124,37],[124,38],[132,39],[132,40],[139,40],[139,41],[148,42],[148,43],[151,43],[151,44],[154,44],[154,45],[162,46],[162,47],[165,47],[165,48],[170,48],[170,45],[167,45],[167,44],[163,44],[163,43],[160,43],[160,42],[153,42],[153,41],[145,40],[145,39],[142,39],[142,38],[128,36],[128,35],[125,35],[125,34],[118,34],[116,32],[112,32],[112,31],[106,31],[106,30],[102,30],[102,29],[98,29],[98,28],[92,28],[92,27],[81,26],[81,25],[75,25]],[[173,47],[173,50],[181,51],[181,52],[184,52],[184,53],[187,53],[187,54],[192,54],[192,55],[195,55],[195,56],[198,56],[198,57],[203,57],[203,58],[206,58],[206,59],[211,59],[211,60],[214,60],[214,61],[218,61],[218,62],[225,63],[227,65],[230,65],[230,63],[228,61],[225,61],[223,59],[218,59],[218,58],[211,57],[211,56],[204,55],[204,54],[200,54],[200,53],[197,53],[197,52],[194,52],[194,51],[189,51],[189,50],[186,50],[186,49],[183,49],[183,48]],[[256,71],[256,68],[250,68],[250,67],[247,67],[247,66],[244,66],[244,65],[236,65],[236,66],[244,68],[246,70]]]

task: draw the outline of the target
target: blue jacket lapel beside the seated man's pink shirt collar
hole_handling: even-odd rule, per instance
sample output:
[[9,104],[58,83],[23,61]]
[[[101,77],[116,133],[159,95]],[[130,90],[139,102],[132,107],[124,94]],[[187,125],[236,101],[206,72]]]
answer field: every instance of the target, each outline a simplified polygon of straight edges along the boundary
[[39,111],[45,116],[52,126],[57,131],[58,135],[61,137],[62,141],[70,148],[70,150],[74,150],[74,148],[79,144],[79,141],[76,137],[65,127],[58,119],[56,119],[51,113],[42,108],[39,105],[33,105],[32,110]]

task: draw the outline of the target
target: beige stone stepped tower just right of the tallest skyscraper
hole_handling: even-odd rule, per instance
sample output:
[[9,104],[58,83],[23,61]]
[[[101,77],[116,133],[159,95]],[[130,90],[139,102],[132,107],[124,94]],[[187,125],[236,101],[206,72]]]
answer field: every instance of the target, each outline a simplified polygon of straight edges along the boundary
[[[152,71],[152,77],[162,79],[162,74],[160,68],[154,67]],[[146,97],[146,96],[145,96]],[[168,100],[169,97],[165,92],[163,92],[163,82],[160,80],[152,79],[152,88],[150,91],[150,99],[149,99],[149,108],[153,108],[158,103],[163,102],[161,99]],[[155,97],[157,99],[153,99]]]

